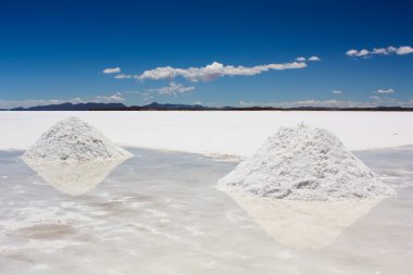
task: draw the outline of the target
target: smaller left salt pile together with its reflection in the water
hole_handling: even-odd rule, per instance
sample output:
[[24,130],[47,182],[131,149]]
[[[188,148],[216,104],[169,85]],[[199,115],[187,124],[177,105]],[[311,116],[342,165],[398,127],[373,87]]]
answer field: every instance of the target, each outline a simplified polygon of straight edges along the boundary
[[92,126],[71,117],[46,132],[23,160],[58,190],[79,196],[130,157]]

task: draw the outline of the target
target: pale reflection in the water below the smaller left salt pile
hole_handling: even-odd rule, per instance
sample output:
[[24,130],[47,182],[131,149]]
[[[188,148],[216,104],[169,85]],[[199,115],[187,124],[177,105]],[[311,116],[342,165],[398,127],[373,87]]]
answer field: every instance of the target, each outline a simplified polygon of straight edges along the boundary
[[70,196],[82,196],[95,187],[126,159],[82,163],[29,162],[26,164],[55,189]]

